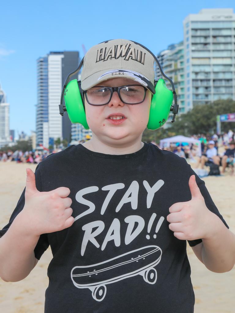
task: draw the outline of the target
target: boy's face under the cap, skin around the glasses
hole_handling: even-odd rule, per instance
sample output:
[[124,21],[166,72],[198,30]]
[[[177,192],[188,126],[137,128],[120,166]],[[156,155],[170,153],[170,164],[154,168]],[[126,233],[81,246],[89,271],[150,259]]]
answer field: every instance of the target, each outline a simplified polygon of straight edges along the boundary
[[[103,81],[97,86],[120,87],[125,85],[140,85],[128,78],[113,78]],[[151,92],[147,90],[144,102],[130,105],[124,104],[114,92],[107,105],[94,106],[85,99],[86,120],[93,133],[100,141],[107,144],[123,144],[138,140],[149,121]],[[120,124],[114,124],[110,115],[125,116]],[[94,136],[93,136],[94,137]]]

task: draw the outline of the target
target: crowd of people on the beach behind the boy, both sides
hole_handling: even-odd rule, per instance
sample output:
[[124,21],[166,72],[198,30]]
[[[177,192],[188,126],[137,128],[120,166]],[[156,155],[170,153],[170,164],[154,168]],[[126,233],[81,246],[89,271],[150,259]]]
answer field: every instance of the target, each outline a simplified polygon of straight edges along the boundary
[[[224,173],[226,168],[231,169],[231,174],[234,174],[235,165],[235,132],[229,130],[227,133],[221,135],[214,134],[210,136],[209,134],[198,134],[192,136],[201,142],[201,156],[198,156],[199,147],[197,144],[187,144],[187,143],[174,143],[170,144],[168,147],[164,147],[164,150],[169,150],[174,152],[180,157],[185,159],[190,159],[192,162],[196,162],[195,169],[204,169],[205,166],[216,165],[218,168],[221,167],[220,172]],[[89,138],[90,139],[90,138]],[[83,140],[79,143],[82,143]],[[154,144],[156,144],[154,142]],[[156,144],[157,145],[157,144]],[[222,147],[222,151],[218,151],[218,147]],[[61,151],[57,149],[54,152]],[[35,150],[35,151],[1,151],[0,150],[0,161],[9,162],[16,161],[17,163],[39,163],[44,160],[50,152],[47,150]],[[218,171],[218,170],[217,170]]]

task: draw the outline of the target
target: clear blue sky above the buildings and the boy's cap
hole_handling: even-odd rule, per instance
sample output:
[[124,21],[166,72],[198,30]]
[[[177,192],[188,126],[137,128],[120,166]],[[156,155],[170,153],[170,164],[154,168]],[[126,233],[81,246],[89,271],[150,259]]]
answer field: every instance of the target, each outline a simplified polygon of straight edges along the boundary
[[[88,50],[104,40],[135,40],[157,54],[183,39],[183,20],[202,8],[235,1],[8,1],[1,6],[0,83],[10,103],[10,129],[35,130],[36,60],[50,51]],[[58,113],[59,114],[59,113]]]

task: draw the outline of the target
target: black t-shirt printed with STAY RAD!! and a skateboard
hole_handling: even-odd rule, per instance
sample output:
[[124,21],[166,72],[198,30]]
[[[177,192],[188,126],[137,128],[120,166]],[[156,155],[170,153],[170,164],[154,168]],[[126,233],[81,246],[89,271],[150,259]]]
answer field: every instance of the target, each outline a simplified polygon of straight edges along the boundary
[[[191,200],[192,174],[184,158],[147,143],[126,155],[80,144],[39,163],[38,190],[70,188],[75,218],[70,228],[42,234],[34,250],[40,259],[50,244],[53,254],[45,312],[193,312],[186,241],[166,220],[172,204]],[[197,175],[196,182],[207,208],[225,223]],[[23,207],[24,192],[2,235]]]

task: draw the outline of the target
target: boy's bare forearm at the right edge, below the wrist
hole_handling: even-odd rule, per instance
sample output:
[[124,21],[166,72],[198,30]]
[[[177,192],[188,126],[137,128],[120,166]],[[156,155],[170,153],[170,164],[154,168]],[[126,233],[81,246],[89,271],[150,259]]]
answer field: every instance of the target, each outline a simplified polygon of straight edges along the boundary
[[216,232],[207,239],[202,239],[202,261],[213,272],[223,273],[235,264],[235,235],[227,229],[217,215],[213,214],[211,223]]

